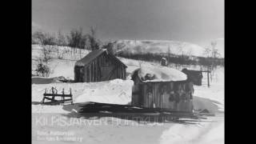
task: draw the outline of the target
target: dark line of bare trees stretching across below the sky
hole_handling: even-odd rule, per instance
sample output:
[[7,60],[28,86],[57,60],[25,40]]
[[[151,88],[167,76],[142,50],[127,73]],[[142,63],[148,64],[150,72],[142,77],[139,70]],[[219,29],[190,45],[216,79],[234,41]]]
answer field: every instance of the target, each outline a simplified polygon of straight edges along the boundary
[[[201,66],[224,66],[224,58],[218,57],[218,50],[215,49],[216,43],[212,42],[210,48],[206,48],[204,57],[194,57],[190,54],[175,55],[171,54],[170,47],[166,54],[143,54],[140,46],[136,47],[138,54],[131,54],[122,52],[125,46],[118,42],[101,42],[96,36],[94,27],[90,27],[88,34],[83,34],[82,28],[70,30],[68,34],[63,34],[58,30],[58,34],[50,34],[42,31],[35,31],[32,34],[32,44],[40,44],[43,47],[48,46],[70,46],[71,48],[78,48],[81,50],[98,50],[100,48],[107,49],[111,54],[123,57],[143,60],[148,62],[161,62],[162,58],[166,58],[168,63],[181,65],[201,65]],[[77,50],[77,49],[73,49]],[[139,53],[141,51],[141,53]]]

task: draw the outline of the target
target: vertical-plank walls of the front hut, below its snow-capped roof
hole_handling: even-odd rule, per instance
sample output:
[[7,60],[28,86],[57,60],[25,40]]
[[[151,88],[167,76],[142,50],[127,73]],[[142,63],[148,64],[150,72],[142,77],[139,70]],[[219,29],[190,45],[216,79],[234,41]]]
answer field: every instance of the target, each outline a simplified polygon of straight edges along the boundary
[[186,112],[193,110],[191,82],[142,82],[138,74],[134,75],[132,105]]

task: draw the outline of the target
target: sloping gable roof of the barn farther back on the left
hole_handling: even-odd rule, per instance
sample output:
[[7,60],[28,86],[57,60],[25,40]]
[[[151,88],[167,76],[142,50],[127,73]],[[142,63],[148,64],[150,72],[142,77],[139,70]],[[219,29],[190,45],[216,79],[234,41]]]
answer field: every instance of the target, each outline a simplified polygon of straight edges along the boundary
[[[84,58],[82,58],[82,59],[78,60],[77,62],[75,62],[75,66],[86,66],[90,62],[92,62],[95,58],[97,58],[99,55],[101,55],[101,54],[103,54],[105,52],[107,53],[106,49],[93,50],[89,54],[87,54]],[[112,56],[112,58],[114,58],[117,62],[119,62],[123,66],[126,66],[118,58],[116,58],[113,54],[110,54],[110,56]]]

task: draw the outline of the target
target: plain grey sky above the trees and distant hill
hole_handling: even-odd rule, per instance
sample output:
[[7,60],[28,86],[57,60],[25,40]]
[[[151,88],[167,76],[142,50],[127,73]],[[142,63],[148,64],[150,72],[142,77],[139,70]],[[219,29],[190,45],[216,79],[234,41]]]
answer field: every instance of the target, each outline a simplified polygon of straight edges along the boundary
[[98,38],[162,39],[205,46],[224,38],[224,0],[32,0],[32,26],[96,26]]

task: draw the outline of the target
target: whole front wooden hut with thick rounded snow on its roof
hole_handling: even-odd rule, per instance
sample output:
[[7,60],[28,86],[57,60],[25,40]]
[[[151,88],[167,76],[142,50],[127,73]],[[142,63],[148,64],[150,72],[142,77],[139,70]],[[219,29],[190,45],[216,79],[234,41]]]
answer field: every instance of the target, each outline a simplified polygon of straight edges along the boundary
[[139,68],[132,74],[132,105],[192,112],[193,82],[166,66]]

